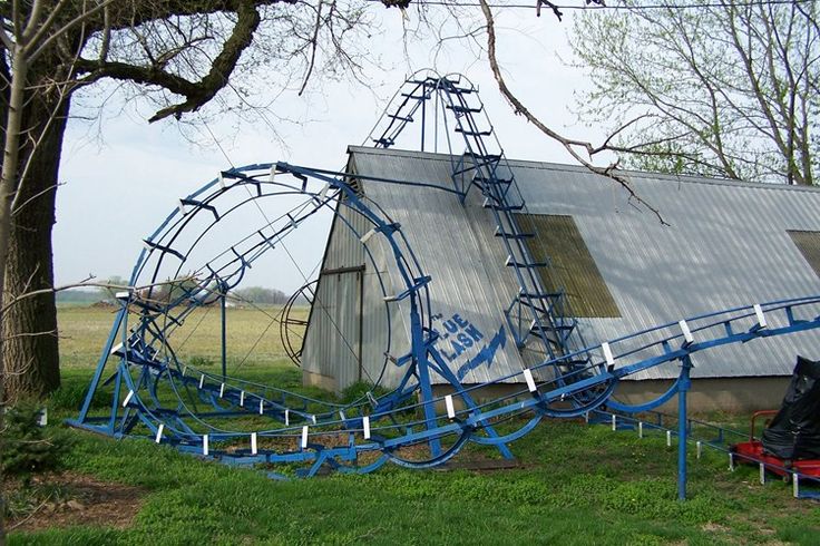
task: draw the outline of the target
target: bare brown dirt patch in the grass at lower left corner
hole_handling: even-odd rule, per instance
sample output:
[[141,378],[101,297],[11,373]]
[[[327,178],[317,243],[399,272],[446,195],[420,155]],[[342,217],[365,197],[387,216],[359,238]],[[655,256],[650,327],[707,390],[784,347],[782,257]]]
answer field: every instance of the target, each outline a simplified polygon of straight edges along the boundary
[[[9,496],[19,495],[12,488]],[[76,525],[126,528],[131,525],[146,490],[81,474],[65,472],[32,484],[37,504],[7,521],[9,532],[65,528]]]

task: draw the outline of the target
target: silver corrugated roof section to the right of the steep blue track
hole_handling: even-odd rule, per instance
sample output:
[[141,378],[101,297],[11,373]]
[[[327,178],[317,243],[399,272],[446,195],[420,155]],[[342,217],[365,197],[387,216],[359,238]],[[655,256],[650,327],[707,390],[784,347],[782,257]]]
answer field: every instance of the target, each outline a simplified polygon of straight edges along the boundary
[[[820,277],[790,236],[820,231],[818,188],[631,173],[632,187],[664,225],[612,181],[584,169],[526,162],[514,162],[514,169],[531,214],[573,217],[621,311],[621,318],[582,319],[588,341],[820,293]],[[820,357],[819,340],[810,331],[716,348],[695,357],[692,377],[788,376],[795,354]],[[635,379],[676,376],[673,362]]]

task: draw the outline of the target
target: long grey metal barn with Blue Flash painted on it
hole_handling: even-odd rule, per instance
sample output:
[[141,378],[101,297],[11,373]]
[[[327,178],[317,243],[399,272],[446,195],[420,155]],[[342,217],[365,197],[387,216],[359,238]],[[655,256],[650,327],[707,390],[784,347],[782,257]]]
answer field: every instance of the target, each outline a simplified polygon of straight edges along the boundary
[[[348,173],[364,178],[361,195],[401,225],[432,277],[437,349],[461,382],[485,383],[543,360],[517,347],[507,328],[505,309],[519,286],[481,195],[462,203],[451,192],[455,158],[365,147],[349,154]],[[526,244],[549,264],[541,281],[563,291],[590,345],[718,309],[820,293],[818,189],[631,173],[664,225],[582,167],[510,160],[509,168],[527,203],[518,221],[536,234]],[[404,303],[391,299],[396,265],[362,230],[361,218],[344,213],[331,228],[302,353],[306,384],[390,387],[401,374],[385,365],[409,349]],[[699,354],[691,403],[775,407],[795,355],[820,358],[819,341],[804,332]],[[653,368],[624,381],[617,396],[656,397],[675,377],[674,364]]]

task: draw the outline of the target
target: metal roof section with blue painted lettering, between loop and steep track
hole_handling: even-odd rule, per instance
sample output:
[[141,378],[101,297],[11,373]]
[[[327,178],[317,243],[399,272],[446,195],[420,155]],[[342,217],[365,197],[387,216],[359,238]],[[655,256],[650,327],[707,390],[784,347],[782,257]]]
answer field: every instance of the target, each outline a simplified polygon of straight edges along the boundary
[[[449,156],[438,157],[443,160],[411,159],[408,164],[403,157],[391,154],[355,154],[354,163],[357,173],[362,175],[448,187]],[[512,276],[505,271],[504,247],[494,241],[490,212],[481,207],[477,193],[461,205],[457,195],[430,187],[373,182],[363,182],[362,187],[370,199],[401,224],[422,272],[432,276],[431,314],[440,315],[433,328],[443,337],[438,348],[451,370],[458,372],[505,328],[502,310],[517,290]],[[401,306],[396,315],[408,313],[404,302],[393,305]],[[407,337],[401,329],[402,324],[397,324],[394,338]],[[462,370],[462,381],[487,382],[521,370],[521,355],[508,333],[505,345],[506,350],[499,350],[489,365]]]

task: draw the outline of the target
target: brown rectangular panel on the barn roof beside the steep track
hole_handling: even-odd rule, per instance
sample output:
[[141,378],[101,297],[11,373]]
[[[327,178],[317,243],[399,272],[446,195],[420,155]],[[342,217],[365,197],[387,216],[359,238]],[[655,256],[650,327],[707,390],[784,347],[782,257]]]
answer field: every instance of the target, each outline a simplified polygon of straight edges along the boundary
[[538,270],[544,287],[547,291],[564,290],[570,314],[579,318],[621,316],[572,216],[519,214],[518,223],[523,232],[536,234],[527,244],[536,262],[549,263]]

